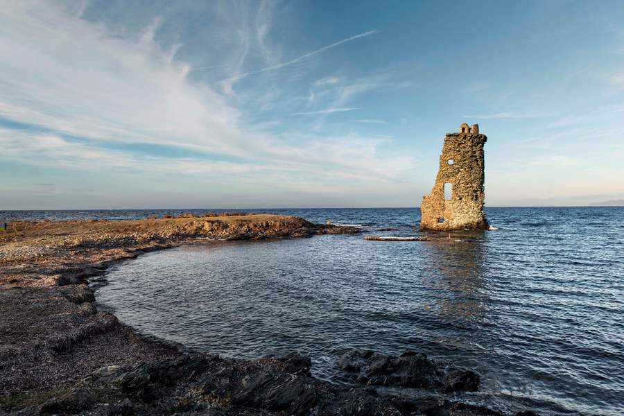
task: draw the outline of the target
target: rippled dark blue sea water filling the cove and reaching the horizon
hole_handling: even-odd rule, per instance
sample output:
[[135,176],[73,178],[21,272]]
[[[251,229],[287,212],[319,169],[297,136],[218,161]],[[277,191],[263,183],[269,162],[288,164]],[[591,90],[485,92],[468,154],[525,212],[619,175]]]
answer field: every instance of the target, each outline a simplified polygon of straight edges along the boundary
[[624,414],[624,208],[488,208],[496,230],[453,243],[362,239],[420,234],[418,209],[249,211],[358,225],[365,234],[145,254],[94,281],[98,302],[142,333],[202,351],[301,352],[333,383],[348,382],[337,367],[348,349],[413,349],[481,374],[480,392],[461,399],[506,412]]

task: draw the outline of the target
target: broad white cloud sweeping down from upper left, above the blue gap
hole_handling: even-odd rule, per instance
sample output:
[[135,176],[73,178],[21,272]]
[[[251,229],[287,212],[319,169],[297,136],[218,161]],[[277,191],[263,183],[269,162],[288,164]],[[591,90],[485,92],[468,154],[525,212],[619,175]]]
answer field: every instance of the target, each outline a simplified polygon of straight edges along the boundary
[[[0,53],[4,56],[0,62],[0,116],[9,121],[49,130],[55,137],[70,135],[109,147],[157,144],[186,148],[198,156],[238,157],[266,166],[300,164],[309,175],[315,175],[319,166],[326,172],[354,171],[355,177],[388,177],[375,171],[392,172],[390,160],[374,156],[376,145],[358,146],[358,159],[368,162],[354,164],[341,157],[348,152],[319,157],[316,151],[324,139],[294,132],[300,139],[293,146],[279,135],[253,131],[242,120],[244,110],[232,106],[227,96],[186,78],[192,67],[188,62],[162,65],[166,51],[154,42],[145,42],[145,33],[152,39],[161,20],[138,39],[120,39],[104,26],[67,15],[49,3],[12,3],[10,10],[4,10],[0,15]],[[78,48],[76,39],[80,39]],[[21,45],[19,51],[15,42]],[[46,143],[49,141],[35,141],[42,153],[52,153]],[[71,146],[80,147],[67,143],[64,151]],[[94,150],[92,146],[88,149]],[[124,160],[123,153],[118,156],[119,161]],[[104,160],[110,166],[119,165],[113,157]],[[175,163],[172,159],[171,164]],[[137,168],[141,166],[145,164],[137,164]]]

